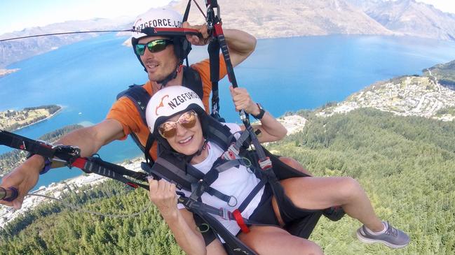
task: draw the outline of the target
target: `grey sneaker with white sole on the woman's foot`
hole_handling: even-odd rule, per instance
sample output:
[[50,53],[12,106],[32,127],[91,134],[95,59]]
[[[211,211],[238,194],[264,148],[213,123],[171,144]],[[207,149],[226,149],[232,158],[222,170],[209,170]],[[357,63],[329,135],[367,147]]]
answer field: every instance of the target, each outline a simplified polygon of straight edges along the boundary
[[380,235],[372,235],[367,231],[365,225],[362,226],[357,231],[358,240],[367,244],[382,242],[384,245],[391,248],[402,248],[409,243],[409,236],[405,232],[394,228],[391,224],[388,224],[388,222],[383,221],[383,224],[386,225],[387,229],[385,233]]

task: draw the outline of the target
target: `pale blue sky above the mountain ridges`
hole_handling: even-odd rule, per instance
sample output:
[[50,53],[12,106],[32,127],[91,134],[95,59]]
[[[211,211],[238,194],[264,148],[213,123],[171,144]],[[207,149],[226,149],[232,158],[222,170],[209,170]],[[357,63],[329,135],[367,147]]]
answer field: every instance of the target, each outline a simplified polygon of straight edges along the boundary
[[[445,12],[455,13],[455,0],[417,0],[433,4]],[[1,0],[0,34],[67,20],[93,17],[136,17],[151,7],[166,5],[170,0]],[[198,3],[204,3],[198,0]]]

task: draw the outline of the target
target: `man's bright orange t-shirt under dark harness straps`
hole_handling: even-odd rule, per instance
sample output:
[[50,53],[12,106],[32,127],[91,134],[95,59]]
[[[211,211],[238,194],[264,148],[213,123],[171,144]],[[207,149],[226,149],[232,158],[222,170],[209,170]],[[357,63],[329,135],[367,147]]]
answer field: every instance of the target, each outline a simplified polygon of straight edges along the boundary
[[[212,92],[212,82],[210,82],[210,61],[205,59],[196,64],[192,64],[191,68],[198,71],[201,75],[202,87],[203,87],[203,104],[205,106],[205,111],[209,111],[209,99],[210,93]],[[226,64],[224,63],[224,58],[222,55],[219,56],[219,79],[221,80],[226,75]],[[153,96],[154,91],[151,86],[151,81],[149,80],[142,87],[147,90],[150,96]],[[147,137],[149,136],[149,128],[146,124],[142,122],[140,113],[137,112],[135,104],[128,99],[126,96],[118,99],[112,106],[111,110],[107,113],[106,119],[116,119],[123,126],[123,133],[125,136],[120,140],[125,140],[130,133],[136,133],[137,138],[139,138],[141,144],[145,147],[147,143]],[[149,151],[152,159],[156,159],[156,143],[151,147]]]

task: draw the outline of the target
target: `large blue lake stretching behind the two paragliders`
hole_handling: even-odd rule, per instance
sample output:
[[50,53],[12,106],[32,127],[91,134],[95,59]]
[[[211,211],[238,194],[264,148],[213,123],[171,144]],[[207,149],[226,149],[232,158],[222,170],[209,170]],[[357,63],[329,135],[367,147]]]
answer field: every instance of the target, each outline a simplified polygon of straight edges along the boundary
[[[38,138],[69,124],[95,124],[106,116],[116,94],[128,85],[143,84],[142,71],[127,38],[114,34],[67,45],[8,66],[21,70],[0,78],[0,110],[59,104],[55,117],[15,133]],[[193,50],[190,62],[207,56]],[[240,87],[273,115],[317,108],[342,101],[378,80],[421,74],[423,68],[455,59],[455,43],[409,37],[311,36],[263,39],[255,52],[236,67]],[[222,116],[239,122],[229,96],[229,82],[220,84]],[[1,146],[0,153],[8,152]],[[131,140],[114,142],[100,150],[108,161],[139,156]],[[47,185],[80,175],[79,169],[60,168],[41,176]]]

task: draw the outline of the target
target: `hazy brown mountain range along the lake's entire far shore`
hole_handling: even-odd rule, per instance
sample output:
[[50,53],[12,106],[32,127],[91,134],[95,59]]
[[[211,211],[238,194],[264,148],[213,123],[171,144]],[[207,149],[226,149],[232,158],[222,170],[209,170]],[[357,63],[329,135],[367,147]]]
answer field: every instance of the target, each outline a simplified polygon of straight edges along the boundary
[[[172,1],[168,7],[183,13],[186,3],[186,0]],[[224,27],[243,29],[257,38],[374,34],[455,41],[455,15],[415,0],[218,0],[218,3]],[[69,21],[15,31],[1,35],[0,39],[64,31],[130,29],[134,20],[134,17],[122,17]],[[194,3],[189,22],[204,22]],[[93,36],[97,34],[0,42],[0,68]]]

